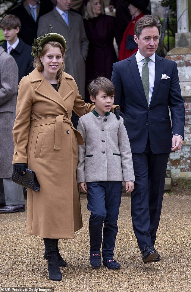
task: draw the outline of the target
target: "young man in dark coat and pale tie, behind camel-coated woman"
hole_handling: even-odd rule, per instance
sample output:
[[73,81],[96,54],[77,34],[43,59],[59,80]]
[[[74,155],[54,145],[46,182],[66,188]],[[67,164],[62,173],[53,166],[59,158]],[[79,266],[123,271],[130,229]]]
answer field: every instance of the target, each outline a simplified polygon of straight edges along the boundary
[[28,75],[34,69],[32,65],[33,57],[30,54],[32,48],[17,37],[21,28],[21,23],[17,16],[6,15],[1,21],[0,27],[6,40],[1,46],[6,53],[14,57],[19,69],[20,82],[23,76]]

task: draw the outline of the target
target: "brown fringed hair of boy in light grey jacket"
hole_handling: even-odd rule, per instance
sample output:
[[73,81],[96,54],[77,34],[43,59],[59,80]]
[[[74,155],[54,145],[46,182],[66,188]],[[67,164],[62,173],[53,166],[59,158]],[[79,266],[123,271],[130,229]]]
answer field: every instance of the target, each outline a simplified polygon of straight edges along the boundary
[[89,95],[92,95],[95,99],[100,90],[103,90],[107,96],[115,95],[115,87],[106,77],[98,77],[88,85]]

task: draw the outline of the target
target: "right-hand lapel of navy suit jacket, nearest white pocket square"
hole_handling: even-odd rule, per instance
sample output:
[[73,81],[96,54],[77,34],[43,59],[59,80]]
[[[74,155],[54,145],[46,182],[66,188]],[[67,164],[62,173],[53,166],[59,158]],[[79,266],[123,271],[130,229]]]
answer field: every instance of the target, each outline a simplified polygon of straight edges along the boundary
[[155,54],[155,83],[154,83],[151,102],[150,102],[149,107],[152,105],[152,103],[156,97],[156,94],[158,92],[158,87],[161,83],[161,76],[162,76],[162,72],[163,72],[163,62],[162,61],[163,61],[163,58],[161,58]]

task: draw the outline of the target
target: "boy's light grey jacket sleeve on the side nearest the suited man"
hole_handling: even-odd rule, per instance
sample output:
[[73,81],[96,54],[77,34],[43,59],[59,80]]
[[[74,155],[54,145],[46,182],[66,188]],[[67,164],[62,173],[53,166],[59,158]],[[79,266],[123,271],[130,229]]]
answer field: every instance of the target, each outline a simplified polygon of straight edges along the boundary
[[135,181],[134,171],[133,171],[133,160],[131,154],[131,147],[129,143],[129,138],[127,131],[123,124],[123,119],[120,117],[121,123],[118,129],[118,145],[121,155],[121,167],[123,172],[124,182]]

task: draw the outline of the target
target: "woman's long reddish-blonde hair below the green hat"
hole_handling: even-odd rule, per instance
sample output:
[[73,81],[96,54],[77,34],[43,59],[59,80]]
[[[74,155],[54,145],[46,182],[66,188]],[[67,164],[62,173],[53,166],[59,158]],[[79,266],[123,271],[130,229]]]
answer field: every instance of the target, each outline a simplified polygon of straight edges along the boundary
[[[60,48],[61,54],[63,56],[63,66],[58,70],[58,72],[56,74],[56,80],[58,81],[58,83],[57,83],[57,89],[58,89],[59,86],[60,86],[60,83],[61,83],[61,79],[62,79],[62,72],[64,71],[64,58],[65,58],[64,48],[57,41],[49,41],[48,43],[46,43],[43,46],[41,55],[44,56],[50,47]],[[35,57],[34,58],[33,67],[37,68],[40,72],[42,72],[42,70],[44,69],[44,66],[43,66],[43,64],[42,64],[42,62],[40,60],[40,57]]]

